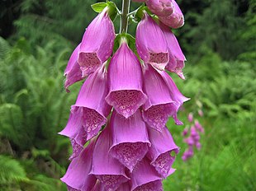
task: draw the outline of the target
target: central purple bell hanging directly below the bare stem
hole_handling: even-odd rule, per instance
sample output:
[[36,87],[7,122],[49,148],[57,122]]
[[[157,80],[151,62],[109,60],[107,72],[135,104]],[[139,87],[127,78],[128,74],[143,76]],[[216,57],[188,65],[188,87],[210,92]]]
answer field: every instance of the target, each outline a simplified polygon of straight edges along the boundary
[[106,97],[119,114],[126,118],[135,114],[136,110],[147,100],[142,91],[142,71],[140,61],[129,49],[126,42],[111,58],[108,67],[110,92]]

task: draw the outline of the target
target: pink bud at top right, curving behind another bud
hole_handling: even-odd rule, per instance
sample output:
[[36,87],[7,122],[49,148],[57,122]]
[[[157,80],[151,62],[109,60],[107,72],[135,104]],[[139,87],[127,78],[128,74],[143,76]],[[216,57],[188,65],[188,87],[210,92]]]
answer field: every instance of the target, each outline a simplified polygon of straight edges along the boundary
[[170,26],[173,29],[177,29],[184,25],[184,16],[181,9],[178,7],[177,2],[173,0],[173,14],[169,16],[159,16],[159,20],[166,26]]

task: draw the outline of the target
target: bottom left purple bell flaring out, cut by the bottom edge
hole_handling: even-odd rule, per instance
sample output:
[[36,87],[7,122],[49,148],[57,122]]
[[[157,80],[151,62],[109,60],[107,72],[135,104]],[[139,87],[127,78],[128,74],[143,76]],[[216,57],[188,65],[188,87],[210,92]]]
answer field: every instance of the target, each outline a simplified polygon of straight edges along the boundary
[[66,174],[61,178],[67,184],[68,190],[89,191],[96,183],[96,177],[89,175],[92,168],[92,151],[94,145],[95,140],[92,140],[80,155],[71,161]]

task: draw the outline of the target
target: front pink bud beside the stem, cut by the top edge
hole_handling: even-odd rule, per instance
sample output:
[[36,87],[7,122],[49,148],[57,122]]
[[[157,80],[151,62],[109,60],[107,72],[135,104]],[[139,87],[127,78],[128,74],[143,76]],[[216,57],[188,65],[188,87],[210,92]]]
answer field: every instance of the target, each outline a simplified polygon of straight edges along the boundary
[[147,0],[149,10],[157,16],[169,16],[173,14],[172,0]]

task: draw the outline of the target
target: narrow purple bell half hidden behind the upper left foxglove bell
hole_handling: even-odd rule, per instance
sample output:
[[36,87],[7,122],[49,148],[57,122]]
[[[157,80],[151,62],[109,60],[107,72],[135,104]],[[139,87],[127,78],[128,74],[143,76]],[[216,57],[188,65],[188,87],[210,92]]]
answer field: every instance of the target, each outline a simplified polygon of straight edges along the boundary
[[64,71],[64,76],[66,77],[66,81],[64,87],[66,91],[69,92],[68,87],[73,83],[83,80],[82,71],[78,64],[78,50],[80,49],[80,44],[78,44],[77,48],[73,50],[69,58],[69,63],[67,68]]

